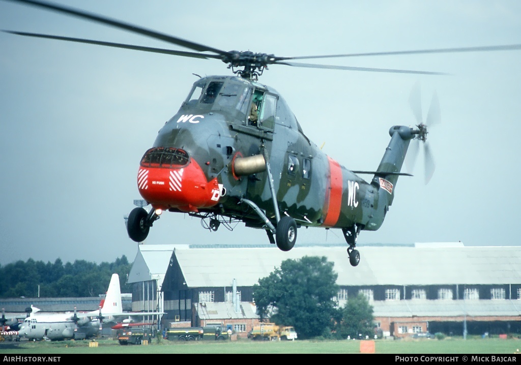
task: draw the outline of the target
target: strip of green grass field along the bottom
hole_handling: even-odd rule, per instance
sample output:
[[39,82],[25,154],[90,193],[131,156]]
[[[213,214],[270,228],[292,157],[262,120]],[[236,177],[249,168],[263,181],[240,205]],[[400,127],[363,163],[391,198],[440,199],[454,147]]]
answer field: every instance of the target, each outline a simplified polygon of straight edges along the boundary
[[[521,348],[520,339],[499,338],[444,338],[421,340],[376,340],[376,354],[514,354]],[[89,341],[62,342],[4,342],[0,355],[32,354],[359,354],[360,342],[345,341],[273,341],[257,342],[248,339],[226,342],[170,342],[153,339],[148,345],[121,346],[113,339],[98,341],[98,347],[89,347]],[[518,355],[521,357],[520,355]],[[0,357],[1,359],[1,357]],[[520,359],[521,361],[521,359]]]

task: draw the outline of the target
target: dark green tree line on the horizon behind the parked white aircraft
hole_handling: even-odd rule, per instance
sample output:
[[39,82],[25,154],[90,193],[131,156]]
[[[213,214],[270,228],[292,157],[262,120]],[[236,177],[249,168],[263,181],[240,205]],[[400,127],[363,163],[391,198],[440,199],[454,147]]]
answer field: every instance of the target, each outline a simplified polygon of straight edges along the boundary
[[131,293],[127,274],[132,264],[125,255],[114,262],[97,264],[85,260],[63,263],[56,259],[0,265],[1,298],[97,297],[105,294],[112,274],[119,274],[121,293]]

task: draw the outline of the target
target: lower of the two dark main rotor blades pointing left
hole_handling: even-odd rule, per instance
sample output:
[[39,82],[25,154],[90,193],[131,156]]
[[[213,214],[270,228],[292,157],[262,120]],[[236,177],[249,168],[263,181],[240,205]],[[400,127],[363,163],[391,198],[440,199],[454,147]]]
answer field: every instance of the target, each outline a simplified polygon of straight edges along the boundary
[[174,51],[173,49],[165,49],[165,48],[135,46],[135,45],[131,45],[131,44],[103,42],[103,41],[95,41],[95,40],[82,39],[82,38],[63,37],[63,36],[51,35],[51,34],[16,32],[16,31],[11,31],[11,30],[2,30],[2,32],[29,36],[29,37],[38,37],[38,38],[55,39],[55,40],[68,41],[68,42],[96,44],[96,45],[107,46],[107,47],[133,49],[134,51],[154,52],[154,53],[162,53],[162,54],[167,54],[167,55],[204,58],[204,59],[208,59],[208,58],[221,59],[221,56],[219,56],[219,55],[208,55],[208,54],[196,53],[196,52]]

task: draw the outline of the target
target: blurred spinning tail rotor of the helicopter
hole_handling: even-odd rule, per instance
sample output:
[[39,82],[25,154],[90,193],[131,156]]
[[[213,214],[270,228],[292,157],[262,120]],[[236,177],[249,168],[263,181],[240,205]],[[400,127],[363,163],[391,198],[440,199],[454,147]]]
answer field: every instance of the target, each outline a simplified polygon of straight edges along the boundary
[[412,173],[414,170],[414,165],[416,164],[416,158],[418,157],[418,149],[420,141],[423,142],[424,147],[424,170],[425,170],[425,184],[428,184],[434,170],[436,169],[436,165],[434,163],[434,159],[432,157],[432,153],[430,150],[430,146],[427,143],[427,133],[428,129],[432,127],[432,125],[439,124],[441,121],[440,114],[440,104],[438,100],[438,95],[436,92],[433,93],[432,99],[430,102],[429,111],[427,112],[427,116],[425,118],[425,123],[423,122],[423,114],[421,112],[421,90],[420,84],[417,82],[413,86],[413,90],[409,96],[409,105],[411,106],[411,110],[416,119],[416,127],[418,128],[418,133],[414,140],[411,141],[409,146],[409,153],[406,155],[405,164],[407,166],[407,171]]

